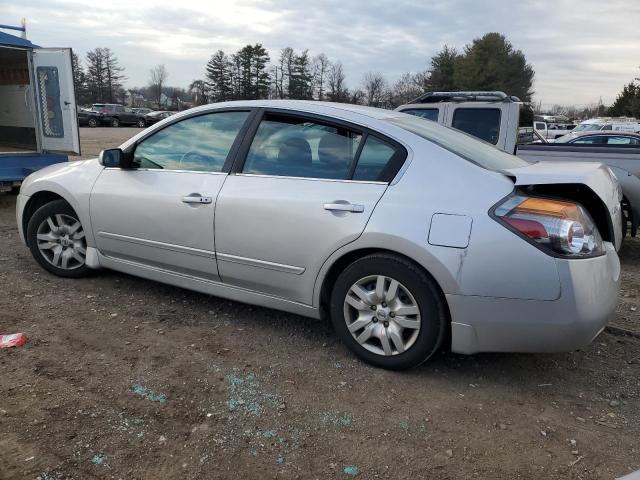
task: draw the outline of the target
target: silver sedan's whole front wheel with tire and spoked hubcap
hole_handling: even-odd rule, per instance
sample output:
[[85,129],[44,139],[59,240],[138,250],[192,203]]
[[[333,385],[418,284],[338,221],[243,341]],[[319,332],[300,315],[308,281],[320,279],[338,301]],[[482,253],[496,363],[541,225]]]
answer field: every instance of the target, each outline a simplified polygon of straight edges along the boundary
[[64,200],[40,207],[29,219],[27,240],[31,254],[49,272],[61,277],[82,277],[87,242],[82,223]]

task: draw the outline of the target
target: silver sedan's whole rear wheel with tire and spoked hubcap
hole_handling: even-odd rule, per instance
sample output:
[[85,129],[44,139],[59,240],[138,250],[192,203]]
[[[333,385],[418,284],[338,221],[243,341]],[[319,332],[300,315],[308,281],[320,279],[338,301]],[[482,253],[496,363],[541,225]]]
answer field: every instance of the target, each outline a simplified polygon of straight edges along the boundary
[[373,254],[336,280],[331,320],[358,357],[392,370],[414,367],[442,343],[447,314],[434,281],[412,262]]

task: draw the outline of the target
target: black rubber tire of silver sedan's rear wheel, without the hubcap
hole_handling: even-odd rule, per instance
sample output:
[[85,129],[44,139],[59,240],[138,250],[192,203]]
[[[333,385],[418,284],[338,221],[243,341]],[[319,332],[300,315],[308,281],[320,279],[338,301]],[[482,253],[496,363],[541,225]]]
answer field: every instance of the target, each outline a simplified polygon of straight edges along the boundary
[[[373,275],[384,275],[400,282],[414,297],[420,310],[418,336],[402,353],[385,356],[369,351],[356,341],[347,327],[346,295],[360,279]],[[403,370],[426,361],[441,346],[449,321],[442,295],[433,279],[412,262],[386,253],[367,255],[344,269],[333,286],[329,311],[335,331],[355,355],[389,370]]]

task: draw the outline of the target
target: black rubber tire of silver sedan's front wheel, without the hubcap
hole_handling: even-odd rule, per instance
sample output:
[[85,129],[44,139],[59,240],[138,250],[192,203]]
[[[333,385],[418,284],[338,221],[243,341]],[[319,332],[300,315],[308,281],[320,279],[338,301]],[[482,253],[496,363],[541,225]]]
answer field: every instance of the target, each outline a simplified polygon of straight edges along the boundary
[[[33,258],[40,264],[45,270],[57,275],[59,277],[66,278],[80,278],[85,277],[91,273],[86,263],[73,269],[64,269],[52,265],[45,257],[41,250],[38,248],[38,228],[43,222],[46,222],[47,218],[55,215],[64,215],[65,217],[71,217],[76,221],[80,221],[76,212],[71,206],[64,200],[54,200],[40,207],[29,219],[27,225],[27,243]],[[83,228],[83,227],[81,227]],[[86,245],[85,245],[86,249]]]

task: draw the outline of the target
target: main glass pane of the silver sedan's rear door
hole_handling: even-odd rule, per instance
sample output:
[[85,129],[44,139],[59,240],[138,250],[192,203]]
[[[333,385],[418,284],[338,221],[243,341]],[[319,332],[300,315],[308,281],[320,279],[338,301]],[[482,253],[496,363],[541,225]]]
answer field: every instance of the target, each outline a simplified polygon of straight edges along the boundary
[[302,117],[267,114],[260,123],[243,173],[347,179],[360,133]]

